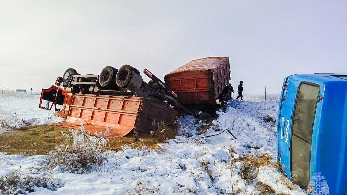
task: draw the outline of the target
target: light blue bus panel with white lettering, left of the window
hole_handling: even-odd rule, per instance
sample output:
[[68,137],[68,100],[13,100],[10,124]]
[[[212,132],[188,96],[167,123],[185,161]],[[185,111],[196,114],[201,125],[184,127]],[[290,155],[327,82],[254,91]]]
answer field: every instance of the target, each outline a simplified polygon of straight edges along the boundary
[[291,127],[298,81],[288,77],[283,84],[277,120],[277,151],[280,167],[290,177]]

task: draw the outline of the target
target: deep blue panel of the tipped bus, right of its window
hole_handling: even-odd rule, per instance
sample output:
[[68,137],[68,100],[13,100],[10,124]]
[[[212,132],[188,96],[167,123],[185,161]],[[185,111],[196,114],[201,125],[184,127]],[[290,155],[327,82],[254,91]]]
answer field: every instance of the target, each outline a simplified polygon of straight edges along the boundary
[[[320,129],[312,138],[311,176],[320,173],[327,181],[330,194],[347,191],[347,86],[325,83],[321,92]],[[317,107],[318,110],[319,107]],[[317,120],[317,119],[315,119]]]

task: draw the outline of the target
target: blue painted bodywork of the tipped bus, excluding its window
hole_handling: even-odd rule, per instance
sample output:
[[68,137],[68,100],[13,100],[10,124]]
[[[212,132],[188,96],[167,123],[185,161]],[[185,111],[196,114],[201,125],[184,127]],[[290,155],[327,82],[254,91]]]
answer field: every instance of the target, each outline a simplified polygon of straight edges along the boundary
[[285,78],[277,120],[280,166],[293,179],[292,121],[301,83],[319,87],[312,128],[309,179],[320,172],[325,177],[322,181],[327,181],[329,194],[347,195],[347,74],[299,74]]

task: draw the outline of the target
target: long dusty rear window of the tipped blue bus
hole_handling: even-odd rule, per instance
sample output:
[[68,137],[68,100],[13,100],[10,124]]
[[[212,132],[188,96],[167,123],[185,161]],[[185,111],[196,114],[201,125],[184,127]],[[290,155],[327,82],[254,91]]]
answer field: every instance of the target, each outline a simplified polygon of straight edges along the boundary
[[296,97],[291,170],[293,180],[302,187],[307,187],[310,180],[311,138],[318,94],[318,86],[301,83]]

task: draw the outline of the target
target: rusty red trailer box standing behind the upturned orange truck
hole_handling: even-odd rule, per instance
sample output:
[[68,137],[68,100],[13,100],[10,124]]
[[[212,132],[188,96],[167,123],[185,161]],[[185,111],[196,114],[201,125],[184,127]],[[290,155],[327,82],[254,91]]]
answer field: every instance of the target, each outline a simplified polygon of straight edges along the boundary
[[181,104],[214,105],[229,80],[229,57],[192,60],[164,77]]

